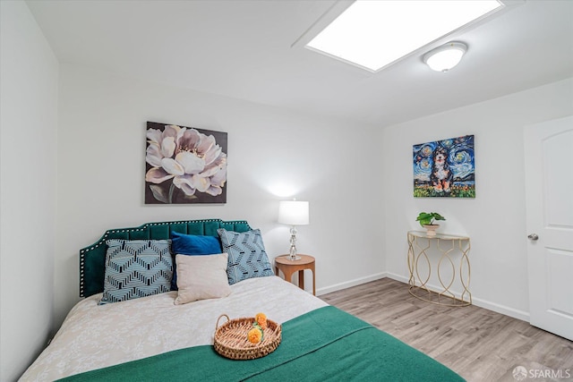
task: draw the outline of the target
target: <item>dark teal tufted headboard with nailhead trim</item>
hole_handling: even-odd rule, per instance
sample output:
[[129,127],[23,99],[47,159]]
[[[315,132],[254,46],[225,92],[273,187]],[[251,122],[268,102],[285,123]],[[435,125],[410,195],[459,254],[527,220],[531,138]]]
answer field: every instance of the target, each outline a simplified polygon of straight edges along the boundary
[[223,221],[221,219],[183,220],[176,222],[146,223],[133,228],[107,230],[98,242],[80,250],[80,297],[104,291],[106,272],[106,251],[108,239],[161,240],[169,239],[171,231],[186,234],[200,234],[218,237],[217,230],[246,232],[251,230],[244,220]]

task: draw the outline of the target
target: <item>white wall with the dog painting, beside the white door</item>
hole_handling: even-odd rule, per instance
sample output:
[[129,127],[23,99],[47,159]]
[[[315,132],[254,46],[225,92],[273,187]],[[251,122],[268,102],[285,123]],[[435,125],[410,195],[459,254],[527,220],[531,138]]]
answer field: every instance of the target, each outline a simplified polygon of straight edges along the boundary
[[[461,107],[382,132],[386,270],[407,281],[406,232],[420,211],[446,216],[440,232],[471,237],[470,290],[476,305],[528,318],[523,128],[573,115],[573,79]],[[475,199],[414,198],[412,145],[475,134]],[[390,181],[389,181],[390,182]]]

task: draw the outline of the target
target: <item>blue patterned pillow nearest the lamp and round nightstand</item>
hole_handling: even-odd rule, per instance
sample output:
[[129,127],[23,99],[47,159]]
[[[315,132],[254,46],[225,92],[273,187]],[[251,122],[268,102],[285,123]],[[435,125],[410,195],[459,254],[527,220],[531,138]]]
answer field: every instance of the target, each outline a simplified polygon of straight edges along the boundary
[[238,233],[219,228],[217,233],[221,239],[223,251],[229,255],[227,265],[229,284],[252,277],[275,275],[262,243],[260,230]]

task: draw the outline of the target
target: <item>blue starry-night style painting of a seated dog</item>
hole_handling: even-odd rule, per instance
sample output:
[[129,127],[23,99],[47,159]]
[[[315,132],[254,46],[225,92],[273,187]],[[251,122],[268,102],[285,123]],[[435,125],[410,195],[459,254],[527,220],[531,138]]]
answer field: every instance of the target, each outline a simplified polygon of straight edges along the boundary
[[415,198],[475,198],[474,136],[413,147]]

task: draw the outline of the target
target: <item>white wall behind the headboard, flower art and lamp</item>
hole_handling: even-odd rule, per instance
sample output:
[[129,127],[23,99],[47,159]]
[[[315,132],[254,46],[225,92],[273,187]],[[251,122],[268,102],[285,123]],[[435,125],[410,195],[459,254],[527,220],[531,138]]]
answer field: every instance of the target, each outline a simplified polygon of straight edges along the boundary
[[[293,196],[311,203],[311,225],[299,227],[297,247],[317,260],[317,289],[381,276],[383,255],[372,250],[381,197],[368,126],[74,65],[62,65],[60,89],[57,322],[78,300],[78,250],[106,229],[247,219],[274,258],[286,253],[289,238],[276,223],[278,200]],[[144,205],[146,121],[228,132],[226,205]]]

